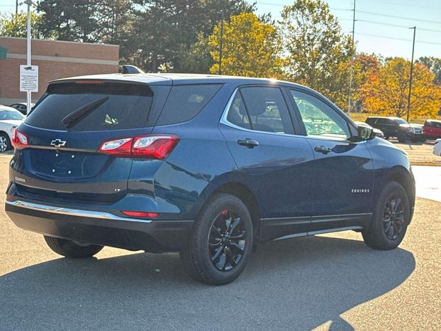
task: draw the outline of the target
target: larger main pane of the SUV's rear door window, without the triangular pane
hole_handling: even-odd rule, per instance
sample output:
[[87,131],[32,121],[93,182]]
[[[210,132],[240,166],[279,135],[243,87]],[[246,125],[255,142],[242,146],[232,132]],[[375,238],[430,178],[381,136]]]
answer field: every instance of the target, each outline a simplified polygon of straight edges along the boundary
[[239,93],[252,130],[293,133],[288,108],[279,88],[241,88]]

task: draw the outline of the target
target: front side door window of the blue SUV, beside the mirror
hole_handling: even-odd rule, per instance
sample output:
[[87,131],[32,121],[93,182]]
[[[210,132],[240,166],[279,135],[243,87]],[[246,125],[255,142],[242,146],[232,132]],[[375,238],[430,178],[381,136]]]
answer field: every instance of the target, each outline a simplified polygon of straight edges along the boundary
[[311,94],[291,90],[308,135],[347,139],[347,121],[325,102]]

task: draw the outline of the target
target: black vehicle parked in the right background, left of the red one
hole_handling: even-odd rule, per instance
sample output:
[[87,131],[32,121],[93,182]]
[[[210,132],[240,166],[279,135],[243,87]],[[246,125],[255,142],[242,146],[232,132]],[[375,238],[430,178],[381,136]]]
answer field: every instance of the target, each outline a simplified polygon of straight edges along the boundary
[[424,141],[422,126],[418,124],[409,124],[399,117],[379,117],[370,116],[366,119],[369,126],[381,130],[384,133],[384,139],[396,137],[398,141]]

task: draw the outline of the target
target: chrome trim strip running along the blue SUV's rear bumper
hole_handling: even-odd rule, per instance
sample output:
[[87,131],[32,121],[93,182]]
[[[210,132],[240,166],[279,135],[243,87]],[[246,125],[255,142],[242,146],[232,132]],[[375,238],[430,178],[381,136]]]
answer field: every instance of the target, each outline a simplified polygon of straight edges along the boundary
[[132,221],[132,222],[142,222],[150,223],[151,219],[132,219],[129,217],[119,217],[109,212],[96,212],[94,210],[81,210],[81,209],[70,209],[63,207],[56,207],[53,205],[41,205],[39,203],[32,203],[26,201],[6,201],[8,205],[14,205],[15,207],[26,208],[30,210],[38,210],[41,212],[52,212],[54,214],[78,216],[78,217],[89,217],[91,219],[109,219],[112,221]]

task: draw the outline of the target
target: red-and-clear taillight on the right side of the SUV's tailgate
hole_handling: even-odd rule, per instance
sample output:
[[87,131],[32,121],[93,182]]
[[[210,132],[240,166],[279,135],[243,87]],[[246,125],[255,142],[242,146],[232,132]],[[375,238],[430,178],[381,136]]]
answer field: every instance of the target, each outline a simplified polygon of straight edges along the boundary
[[119,157],[165,159],[178,141],[179,138],[171,134],[127,137],[103,141],[98,151]]

